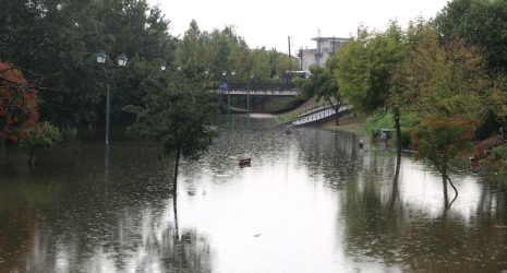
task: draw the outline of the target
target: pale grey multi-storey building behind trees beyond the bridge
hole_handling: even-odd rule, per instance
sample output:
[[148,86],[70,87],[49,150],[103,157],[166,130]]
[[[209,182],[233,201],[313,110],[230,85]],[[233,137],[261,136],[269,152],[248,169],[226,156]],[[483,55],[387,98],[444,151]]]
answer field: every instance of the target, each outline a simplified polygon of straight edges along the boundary
[[316,41],[316,48],[300,49],[298,57],[301,61],[301,70],[309,71],[310,67],[324,67],[329,56],[340,48],[348,38],[337,37],[316,37],[312,40]]

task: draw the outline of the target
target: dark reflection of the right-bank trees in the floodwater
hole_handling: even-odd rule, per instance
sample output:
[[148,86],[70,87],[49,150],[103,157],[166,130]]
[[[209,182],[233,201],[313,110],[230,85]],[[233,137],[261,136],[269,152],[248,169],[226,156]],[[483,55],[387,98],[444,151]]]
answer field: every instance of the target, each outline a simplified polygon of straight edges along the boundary
[[396,175],[401,162],[396,154],[357,150],[358,140],[343,133],[301,129],[297,136],[300,157],[312,176],[322,177],[339,191],[337,226],[345,225],[348,256],[407,271],[507,269],[505,185],[483,187],[478,213],[470,223],[452,210],[428,218],[425,211],[400,201]]

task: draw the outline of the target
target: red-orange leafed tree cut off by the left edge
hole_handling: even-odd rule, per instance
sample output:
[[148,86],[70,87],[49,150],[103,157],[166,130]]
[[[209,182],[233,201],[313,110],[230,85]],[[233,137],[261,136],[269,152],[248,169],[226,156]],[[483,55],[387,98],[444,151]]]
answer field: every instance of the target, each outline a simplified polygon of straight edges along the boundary
[[0,61],[0,141],[19,143],[38,121],[38,92],[23,73]]

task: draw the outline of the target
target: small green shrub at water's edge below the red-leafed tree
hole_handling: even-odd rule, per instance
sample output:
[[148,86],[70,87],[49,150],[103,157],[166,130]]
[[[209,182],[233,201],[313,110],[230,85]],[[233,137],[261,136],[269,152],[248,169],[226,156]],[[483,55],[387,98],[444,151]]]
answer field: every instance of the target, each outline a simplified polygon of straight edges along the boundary
[[29,149],[51,149],[62,141],[60,129],[48,121],[33,126],[26,133],[21,145]]

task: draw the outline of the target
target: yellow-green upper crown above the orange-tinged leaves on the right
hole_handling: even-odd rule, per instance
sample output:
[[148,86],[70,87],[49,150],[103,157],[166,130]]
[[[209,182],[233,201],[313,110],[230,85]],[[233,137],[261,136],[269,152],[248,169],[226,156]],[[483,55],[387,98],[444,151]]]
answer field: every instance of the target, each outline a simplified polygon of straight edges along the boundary
[[481,122],[487,115],[491,81],[483,58],[459,40],[440,44],[428,28],[414,49],[405,95],[420,116],[454,117]]

